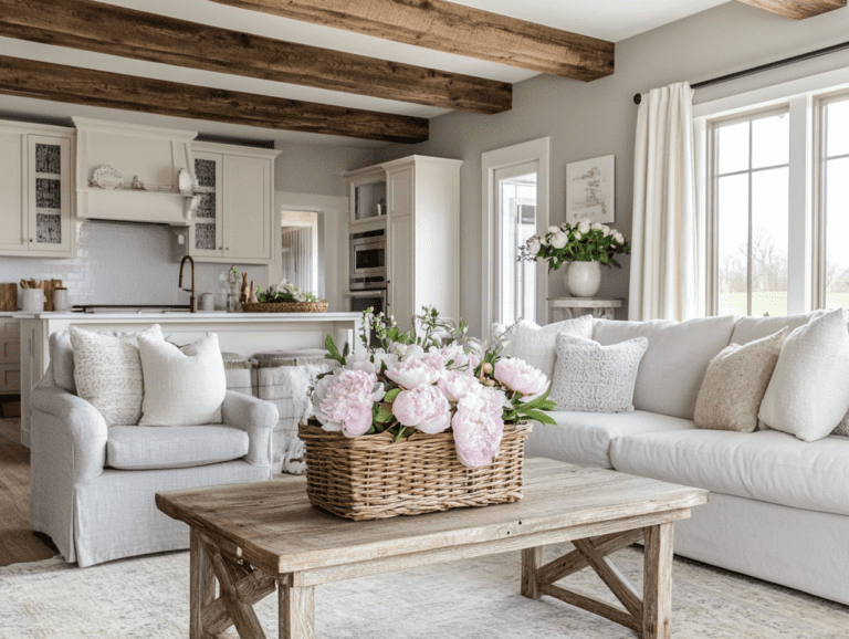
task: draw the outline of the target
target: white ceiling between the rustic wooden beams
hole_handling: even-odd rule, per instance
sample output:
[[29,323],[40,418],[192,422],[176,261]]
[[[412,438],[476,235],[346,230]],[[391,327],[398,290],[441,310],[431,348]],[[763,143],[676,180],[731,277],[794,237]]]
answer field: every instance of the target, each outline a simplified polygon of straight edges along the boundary
[[[639,33],[704,11],[727,0],[452,0],[458,4],[546,24],[555,29],[618,42]],[[279,18],[266,13],[237,9],[208,0],[108,0],[109,4],[159,13],[171,18],[201,22],[213,27],[265,35],[301,44],[311,44],[382,60],[391,60],[441,71],[450,71],[516,83],[536,75],[534,71],[485,62],[472,57],[442,53],[369,35],[353,33]],[[336,91],[282,84],[253,77],[242,77],[180,66],[170,66],[75,49],[51,46],[23,40],[0,38],[0,55],[12,55],[84,69],[111,71],[143,77],[169,80],[186,84],[211,86],[321,104],[363,108],[382,113],[431,118],[446,108],[395,102]],[[563,80],[564,82],[573,82]],[[70,124],[70,115],[115,119],[199,130],[210,136],[239,139],[279,139],[312,144],[377,147],[386,143],[312,133],[271,130],[266,128],[198,122],[161,115],[115,111],[27,97],[0,95],[0,117],[42,117],[49,122]],[[485,116],[484,116],[485,117]]]

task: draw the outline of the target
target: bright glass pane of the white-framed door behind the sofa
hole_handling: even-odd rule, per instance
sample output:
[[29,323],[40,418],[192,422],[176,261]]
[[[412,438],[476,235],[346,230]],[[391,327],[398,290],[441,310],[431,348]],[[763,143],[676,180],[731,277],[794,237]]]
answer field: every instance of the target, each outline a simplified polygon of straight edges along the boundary
[[518,247],[536,232],[536,174],[499,180],[501,200],[501,322],[536,321],[536,262],[518,262]]

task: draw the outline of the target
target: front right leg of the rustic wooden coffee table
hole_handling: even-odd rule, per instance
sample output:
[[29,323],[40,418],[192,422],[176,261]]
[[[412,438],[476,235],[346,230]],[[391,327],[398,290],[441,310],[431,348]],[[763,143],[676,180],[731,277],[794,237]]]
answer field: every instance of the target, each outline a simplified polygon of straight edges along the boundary
[[642,638],[669,639],[672,617],[672,523],[646,528]]

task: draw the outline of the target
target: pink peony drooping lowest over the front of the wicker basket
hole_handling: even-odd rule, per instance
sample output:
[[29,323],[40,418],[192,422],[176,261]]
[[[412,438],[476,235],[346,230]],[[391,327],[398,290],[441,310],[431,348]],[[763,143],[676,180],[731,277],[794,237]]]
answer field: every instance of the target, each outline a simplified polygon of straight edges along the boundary
[[503,402],[504,394],[491,388],[469,394],[457,402],[451,426],[454,429],[457,454],[463,465],[486,465],[499,454],[504,433]]

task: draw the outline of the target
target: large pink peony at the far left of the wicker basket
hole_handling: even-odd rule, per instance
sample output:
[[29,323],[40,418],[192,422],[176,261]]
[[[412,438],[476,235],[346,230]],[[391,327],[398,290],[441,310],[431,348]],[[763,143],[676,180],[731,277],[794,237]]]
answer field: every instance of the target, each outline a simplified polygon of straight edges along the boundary
[[371,406],[384,398],[384,385],[366,370],[344,369],[323,377],[315,386],[315,417],[324,430],[358,437],[371,428]]

